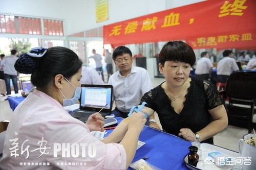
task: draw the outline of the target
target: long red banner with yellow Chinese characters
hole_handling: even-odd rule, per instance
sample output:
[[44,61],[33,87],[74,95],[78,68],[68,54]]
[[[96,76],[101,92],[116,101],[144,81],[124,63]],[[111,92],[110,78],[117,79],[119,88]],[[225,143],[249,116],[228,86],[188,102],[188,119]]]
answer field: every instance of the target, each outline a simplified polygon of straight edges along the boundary
[[185,40],[193,48],[256,49],[255,16],[255,0],[209,0],[104,26],[103,43]]

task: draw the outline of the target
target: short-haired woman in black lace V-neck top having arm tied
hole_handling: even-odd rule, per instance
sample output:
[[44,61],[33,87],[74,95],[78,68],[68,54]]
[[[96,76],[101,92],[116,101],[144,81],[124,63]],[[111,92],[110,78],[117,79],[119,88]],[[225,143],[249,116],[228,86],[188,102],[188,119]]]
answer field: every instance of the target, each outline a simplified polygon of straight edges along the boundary
[[[163,131],[189,141],[214,143],[213,136],[228,124],[227,113],[214,84],[188,77],[195,61],[188,44],[167,42],[159,54],[159,71],[166,81],[146,92],[140,105],[146,102],[142,111],[148,116],[158,114]],[[141,112],[133,114],[145,117]]]

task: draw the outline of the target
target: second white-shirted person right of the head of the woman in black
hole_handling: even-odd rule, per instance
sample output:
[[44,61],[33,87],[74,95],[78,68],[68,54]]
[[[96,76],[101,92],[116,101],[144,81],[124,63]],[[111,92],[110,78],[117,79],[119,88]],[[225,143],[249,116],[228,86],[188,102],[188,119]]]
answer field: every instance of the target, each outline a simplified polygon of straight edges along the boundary
[[224,50],[222,54],[224,58],[217,63],[217,82],[226,83],[232,72],[239,71],[239,67],[231,50]]

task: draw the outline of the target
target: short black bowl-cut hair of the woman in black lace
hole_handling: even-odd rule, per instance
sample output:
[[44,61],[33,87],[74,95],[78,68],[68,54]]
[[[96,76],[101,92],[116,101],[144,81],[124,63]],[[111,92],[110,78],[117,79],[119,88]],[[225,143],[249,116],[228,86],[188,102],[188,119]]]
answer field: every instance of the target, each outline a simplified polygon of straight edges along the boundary
[[159,53],[159,63],[164,65],[165,61],[180,61],[193,66],[196,55],[193,48],[183,41],[169,41],[164,44]]

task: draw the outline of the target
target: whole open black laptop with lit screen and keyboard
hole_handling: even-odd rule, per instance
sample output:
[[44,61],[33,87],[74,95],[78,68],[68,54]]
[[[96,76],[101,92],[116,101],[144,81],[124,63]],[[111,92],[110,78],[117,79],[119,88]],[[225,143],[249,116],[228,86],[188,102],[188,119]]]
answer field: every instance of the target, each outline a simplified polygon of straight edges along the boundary
[[103,117],[111,114],[113,95],[112,85],[82,84],[81,87],[79,110],[71,112],[71,116],[86,123],[89,116],[93,113],[100,111],[99,113]]

